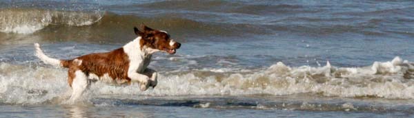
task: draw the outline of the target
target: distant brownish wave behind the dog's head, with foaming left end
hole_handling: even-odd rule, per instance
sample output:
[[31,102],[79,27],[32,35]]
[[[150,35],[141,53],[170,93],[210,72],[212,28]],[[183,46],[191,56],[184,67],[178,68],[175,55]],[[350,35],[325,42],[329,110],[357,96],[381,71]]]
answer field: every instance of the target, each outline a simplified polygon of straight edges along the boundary
[[[63,11],[39,8],[0,9],[0,40],[87,41],[90,43],[119,43],[134,38],[132,27],[145,23],[163,29],[178,38],[191,36],[239,36],[238,32],[252,29],[250,25],[217,24],[188,19],[177,14],[116,14],[104,11]],[[117,31],[116,34],[113,31]],[[202,31],[202,32],[200,32]],[[262,31],[255,29],[254,31]],[[97,35],[99,34],[99,35]],[[13,40],[10,40],[13,39]],[[119,40],[114,40],[119,39]],[[213,38],[215,40],[221,40]]]

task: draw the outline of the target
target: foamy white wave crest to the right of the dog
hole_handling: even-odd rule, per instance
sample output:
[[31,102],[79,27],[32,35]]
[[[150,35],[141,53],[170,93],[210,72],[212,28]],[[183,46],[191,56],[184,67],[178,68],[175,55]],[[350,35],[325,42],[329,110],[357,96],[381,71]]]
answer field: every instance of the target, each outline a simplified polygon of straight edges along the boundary
[[[288,67],[282,62],[253,73],[210,73],[162,77],[158,88],[144,95],[292,95],[311,93],[337,97],[413,99],[414,67],[396,57],[371,67]],[[184,79],[185,78],[185,79]],[[166,80],[165,80],[166,79]],[[99,90],[103,91],[105,89]],[[110,89],[106,89],[110,90]],[[108,91],[102,92],[106,93]],[[131,92],[131,91],[128,91]],[[126,93],[128,93],[126,92]]]

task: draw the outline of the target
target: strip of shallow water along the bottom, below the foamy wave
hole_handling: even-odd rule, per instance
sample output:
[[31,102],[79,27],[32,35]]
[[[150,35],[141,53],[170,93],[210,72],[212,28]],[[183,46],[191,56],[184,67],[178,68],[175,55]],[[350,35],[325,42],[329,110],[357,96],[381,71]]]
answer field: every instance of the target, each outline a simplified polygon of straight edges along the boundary
[[[96,98],[92,104],[1,106],[3,117],[411,117],[408,104],[364,100],[289,97]],[[107,96],[115,97],[115,96]],[[123,95],[125,97],[125,95]],[[266,98],[264,98],[266,97]],[[134,96],[134,98],[137,98]],[[317,98],[316,98],[317,99]],[[322,102],[323,101],[323,102]],[[397,104],[395,104],[397,103]],[[264,106],[262,104],[272,104]],[[39,113],[42,112],[42,113]]]

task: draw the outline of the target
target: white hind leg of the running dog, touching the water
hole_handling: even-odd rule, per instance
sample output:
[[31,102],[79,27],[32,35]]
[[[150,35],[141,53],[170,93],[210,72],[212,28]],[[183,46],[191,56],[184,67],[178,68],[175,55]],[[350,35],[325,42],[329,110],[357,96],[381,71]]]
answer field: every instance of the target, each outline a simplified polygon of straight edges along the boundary
[[83,91],[88,87],[88,77],[85,73],[78,70],[75,71],[75,78],[72,81],[72,96],[70,96],[70,102],[75,102],[81,97]]

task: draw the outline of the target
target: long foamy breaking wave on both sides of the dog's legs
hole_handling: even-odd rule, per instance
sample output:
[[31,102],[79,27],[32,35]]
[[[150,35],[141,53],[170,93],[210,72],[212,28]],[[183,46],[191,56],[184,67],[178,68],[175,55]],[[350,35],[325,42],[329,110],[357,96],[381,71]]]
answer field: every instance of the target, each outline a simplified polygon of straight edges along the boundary
[[[66,70],[33,65],[0,64],[0,102],[39,104],[68,97]],[[141,92],[136,84],[97,82],[86,98],[101,95],[293,95],[414,99],[414,64],[399,57],[369,67],[288,67],[277,62],[262,71],[198,70],[161,73],[156,88]]]

